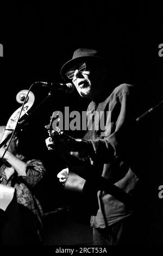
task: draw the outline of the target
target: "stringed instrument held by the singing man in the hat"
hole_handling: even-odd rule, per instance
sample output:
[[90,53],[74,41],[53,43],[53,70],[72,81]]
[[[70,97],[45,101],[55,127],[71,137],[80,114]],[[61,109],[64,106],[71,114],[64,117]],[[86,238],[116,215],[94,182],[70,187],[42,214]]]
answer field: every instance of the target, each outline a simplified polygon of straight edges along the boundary
[[[52,139],[56,136],[55,139],[57,141],[57,136],[60,134],[60,130],[58,127],[54,130],[53,120],[55,117],[53,117],[53,115],[50,124],[45,127],[48,130],[49,136],[51,136]],[[82,194],[85,200],[89,202],[89,206],[91,206],[91,203],[97,200],[98,186],[97,179],[93,180],[95,172],[92,169],[90,158],[83,159],[83,156],[78,152],[62,151],[61,155],[69,170],[68,178],[65,182],[65,190]],[[98,204],[93,203],[92,205],[95,206]],[[91,210],[92,209],[93,206],[91,207]]]

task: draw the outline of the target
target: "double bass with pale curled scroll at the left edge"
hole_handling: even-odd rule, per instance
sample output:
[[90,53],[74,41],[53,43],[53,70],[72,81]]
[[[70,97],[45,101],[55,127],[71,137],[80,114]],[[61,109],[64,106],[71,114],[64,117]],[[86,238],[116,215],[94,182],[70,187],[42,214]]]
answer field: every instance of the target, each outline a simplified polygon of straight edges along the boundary
[[[23,105],[10,116],[2,134],[0,148],[12,138],[17,126],[22,127],[34,105],[35,96],[29,90],[21,90],[16,95],[16,101]],[[14,187],[0,184],[0,216],[0,245],[23,245],[24,230]]]

